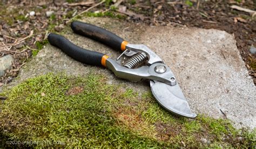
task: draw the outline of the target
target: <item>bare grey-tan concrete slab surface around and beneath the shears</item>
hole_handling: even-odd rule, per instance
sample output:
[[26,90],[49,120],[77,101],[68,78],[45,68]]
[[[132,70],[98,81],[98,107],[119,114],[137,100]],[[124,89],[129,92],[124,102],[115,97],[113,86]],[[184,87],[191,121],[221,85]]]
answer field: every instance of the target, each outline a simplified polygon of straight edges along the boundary
[[[86,18],[83,21],[113,31],[130,43],[149,46],[171,67],[192,111],[214,118],[228,118],[235,127],[255,128],[256,90],[232,35],[213,29],[146,26],[109,18]],[[113,58],[120,54],[103,44],[75,35],[70,29],[64,36],[83,48],[104,52]],[[139,92],[150,91],[147,82],[132,83],[119,79],[102,67],[76,62],[51,45],[46,45],[22,68],[12,85],[58,71],[76,76],[96,71],[109,76],[109,83],[121,83],[139,89]]]

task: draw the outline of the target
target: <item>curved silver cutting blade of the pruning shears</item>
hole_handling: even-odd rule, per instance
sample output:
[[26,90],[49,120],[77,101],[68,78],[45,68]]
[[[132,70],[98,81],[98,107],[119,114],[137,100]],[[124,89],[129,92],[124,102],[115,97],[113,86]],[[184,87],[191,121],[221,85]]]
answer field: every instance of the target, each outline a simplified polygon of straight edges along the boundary
[[190,106],[188,105],[178,83],[171,86],[158,81],[150,80],[150,86],[154,97],[166,110],[179,116],[188,118],[197,117],[197,114],[192,113],[190,110]]

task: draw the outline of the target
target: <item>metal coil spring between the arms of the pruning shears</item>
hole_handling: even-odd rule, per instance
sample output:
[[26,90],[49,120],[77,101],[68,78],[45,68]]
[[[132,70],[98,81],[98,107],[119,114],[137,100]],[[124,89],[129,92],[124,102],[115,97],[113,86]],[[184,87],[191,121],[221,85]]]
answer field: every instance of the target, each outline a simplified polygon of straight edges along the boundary
[[134,67],[138,66],[139,64],[142,64],[144,62],[144,60],[146,60],[147,55],[144,52],[139,53],[136,56],[133,56],[132,58],[130,58],[125,64],[124,66],[129,68],[129,69],[133,69]]

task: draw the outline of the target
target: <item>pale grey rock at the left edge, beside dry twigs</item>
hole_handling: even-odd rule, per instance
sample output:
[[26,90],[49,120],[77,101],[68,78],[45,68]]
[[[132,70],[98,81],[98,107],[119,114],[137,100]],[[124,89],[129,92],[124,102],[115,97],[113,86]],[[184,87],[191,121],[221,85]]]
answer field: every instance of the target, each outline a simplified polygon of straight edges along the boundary
[[0,58],[0,77],[4,76],[7,69],[11,69],[14,58],[11,55],[6,55]]

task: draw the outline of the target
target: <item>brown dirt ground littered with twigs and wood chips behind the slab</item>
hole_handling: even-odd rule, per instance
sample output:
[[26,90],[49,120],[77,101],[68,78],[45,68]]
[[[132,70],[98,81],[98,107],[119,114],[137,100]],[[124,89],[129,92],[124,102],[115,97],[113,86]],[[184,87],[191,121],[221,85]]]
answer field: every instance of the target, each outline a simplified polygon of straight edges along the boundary
[[[242,59],[256,84],[256,16],[232,9],[251,10],[255,1],[2,1],[0,3],[0,52],[12,55],[15,63],[2,77],[0,86],[11,82],[19,69],[47,43],[49,32],[60,32],[70,19],[81,16],[113,17],[149,25],[186,25],[224,30],[234,35]],[[87,11],[77,16],[82,11]],[[32,13],[35,12],[35,14]],[[46,12],[53,11],[46,16]],[[31,13],[30,13],[31,12]]]

